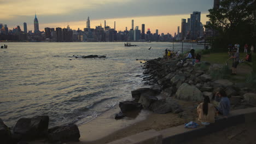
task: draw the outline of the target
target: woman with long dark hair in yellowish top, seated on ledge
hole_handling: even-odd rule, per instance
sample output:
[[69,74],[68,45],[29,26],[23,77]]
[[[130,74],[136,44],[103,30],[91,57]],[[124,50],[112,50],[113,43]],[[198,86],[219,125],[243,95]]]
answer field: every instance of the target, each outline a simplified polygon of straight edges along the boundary
[[214,105],[210,103],[210,98],[208,96],[205,96],[203,103],[197,106],[197,113],[199,115],[198,121],[203,125],[215,122],[215,108]]

